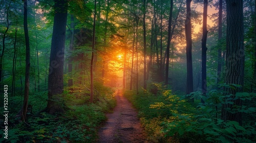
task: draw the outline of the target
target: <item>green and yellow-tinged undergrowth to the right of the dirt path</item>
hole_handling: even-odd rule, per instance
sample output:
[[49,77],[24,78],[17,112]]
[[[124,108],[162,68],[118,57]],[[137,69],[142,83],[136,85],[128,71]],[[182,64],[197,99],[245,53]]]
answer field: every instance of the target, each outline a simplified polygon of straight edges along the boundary
[[[247,106],[227,109],[242,112],[243,125],[220,119],[221,104],[233,104],[231,98],[224,100],[222,91],[211,90],[206,97],[193,92],[186,96],[174,95],[172,91],[158,85],[158,94],[152,92],[126,91],[125,97],[139,110],[139,117],[148,139],[154,142],[253,142],[256,141],[255,94],[239,92],[236,98],[248,103]],[[224,86],[224,85],[223,85]],[[227,86],[227,85],[225,85]],[[232,85],[236,86],[236,85]],[[228,86],[228,87],[232,87]],[[234,87],[233,87],[234,88]],[[204,98],[205,104],[200,103]],[[250,104],[249,104],[250,103]]]

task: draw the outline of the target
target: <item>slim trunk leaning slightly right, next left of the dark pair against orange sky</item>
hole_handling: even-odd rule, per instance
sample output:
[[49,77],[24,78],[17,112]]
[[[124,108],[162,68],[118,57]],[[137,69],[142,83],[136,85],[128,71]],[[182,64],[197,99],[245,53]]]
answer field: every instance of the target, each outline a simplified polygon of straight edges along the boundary
[[171,35],[171,31],[170,30],[171,30],[171,27],[172,27],[173,5],[174,5],[174,1],[170,0],[170,13],[169,13],[169,23],[168,23],[168,38],[167,38],[167,47],[166,47],[165,85],[168,84],[170,40],[172,39],[172,35]]

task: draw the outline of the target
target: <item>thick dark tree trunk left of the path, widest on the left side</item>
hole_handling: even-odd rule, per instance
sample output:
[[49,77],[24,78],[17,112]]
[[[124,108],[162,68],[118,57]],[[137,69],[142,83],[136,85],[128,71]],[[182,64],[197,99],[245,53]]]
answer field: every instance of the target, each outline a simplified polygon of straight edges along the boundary
[[48,76],[48,103],[47,111],[50,114],[63,112],[59,106],[59,95],[63,93],[63,61],[65,49],[67,0],[54,1],[54,21]]

